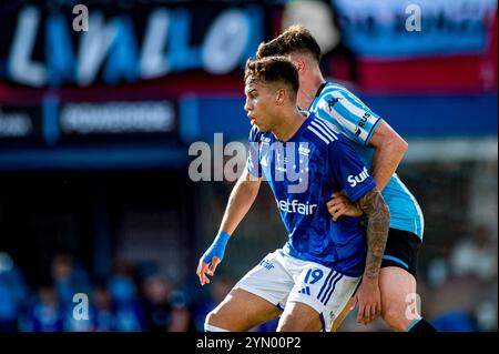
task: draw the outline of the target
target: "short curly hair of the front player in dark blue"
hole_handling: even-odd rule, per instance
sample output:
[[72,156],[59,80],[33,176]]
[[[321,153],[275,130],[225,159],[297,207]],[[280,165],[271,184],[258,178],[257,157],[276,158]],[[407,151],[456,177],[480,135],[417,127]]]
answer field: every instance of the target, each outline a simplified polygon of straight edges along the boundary
[[298,71],[284,57],[249,58],[246,61],[244,81],[284,82],[296,93],[299,89]]

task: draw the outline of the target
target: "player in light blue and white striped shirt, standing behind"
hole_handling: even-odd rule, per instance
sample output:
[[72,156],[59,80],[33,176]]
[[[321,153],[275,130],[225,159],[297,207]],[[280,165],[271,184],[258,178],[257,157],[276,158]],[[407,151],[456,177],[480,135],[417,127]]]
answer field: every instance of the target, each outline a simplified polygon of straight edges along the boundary
[[[320,48],[304,27],[292,26],[272,41],[262,43],[257,58],[269,55],[285,55],[293,61],[299,74],[299,108],[327,120],[336,132],[354,143],[390,209],[390,230],[379,277],[383,318],[395,331],[435,332],[414,306],[424,219],[418,202],[395,173],[407,143],[352,92],[324,80],[319,68]],[[353,202],[343,193],[334,193],[328,202],[333,219],[360,215],[361,211]],[[335,322],[335,328],[355,301]],[[408,307],[414,309],[408,312]]]

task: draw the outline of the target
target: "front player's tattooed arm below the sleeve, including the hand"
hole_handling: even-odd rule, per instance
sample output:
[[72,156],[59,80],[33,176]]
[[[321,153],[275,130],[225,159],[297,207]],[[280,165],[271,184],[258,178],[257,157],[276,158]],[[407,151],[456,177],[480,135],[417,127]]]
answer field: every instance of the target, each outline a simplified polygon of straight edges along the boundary
[[356,205],[368,216],[366,267],[360,287],[355,295],[359,303],[357,322],[368,324],[381,313],[378,280],[388,237],[390,212],[377,188],[360,198]]

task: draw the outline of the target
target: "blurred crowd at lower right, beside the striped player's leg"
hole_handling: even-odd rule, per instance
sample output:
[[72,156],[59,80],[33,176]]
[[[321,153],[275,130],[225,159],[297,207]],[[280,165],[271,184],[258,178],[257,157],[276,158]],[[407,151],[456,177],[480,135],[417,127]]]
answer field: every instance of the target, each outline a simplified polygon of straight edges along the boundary
[[426,267],[427,305],[442,331],[497,331],[498,244],[477,225]]

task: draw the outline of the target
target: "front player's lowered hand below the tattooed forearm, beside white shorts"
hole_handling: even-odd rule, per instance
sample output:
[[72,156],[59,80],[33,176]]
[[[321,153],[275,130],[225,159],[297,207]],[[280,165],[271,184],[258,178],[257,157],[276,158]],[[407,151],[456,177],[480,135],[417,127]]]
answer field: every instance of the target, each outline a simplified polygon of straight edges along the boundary
[[381,293],[378,279],[364,277],[354,299],[350,311],[358,302],[357,323],[369,324],[381,314]]

